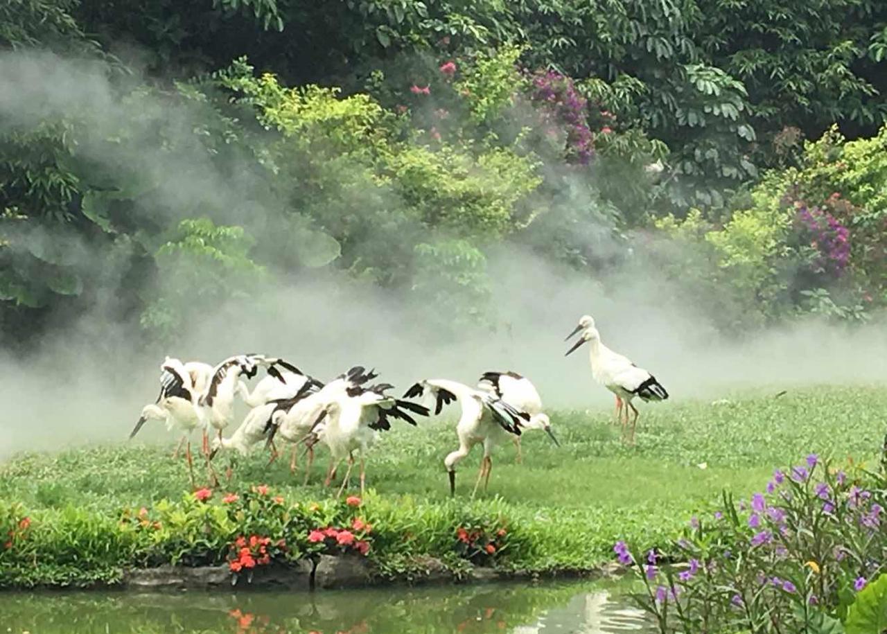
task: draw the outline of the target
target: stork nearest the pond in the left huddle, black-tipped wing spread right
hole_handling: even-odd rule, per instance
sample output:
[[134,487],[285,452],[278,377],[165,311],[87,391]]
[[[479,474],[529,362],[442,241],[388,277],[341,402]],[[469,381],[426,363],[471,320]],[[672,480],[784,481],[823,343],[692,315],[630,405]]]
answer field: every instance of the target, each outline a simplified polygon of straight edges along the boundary
[[360,493],[365,489],[365,453],[375,441],[377,431],[391,428],[390,419],[401,419],[412,426],[416,425],[413,415],[428,416],[428,408],[404,399],[386,395],[391,387],[381,383],[372,387],[349,387],[344,395],[339,395],[326,407],[326,423],[322,441],[329,448],[332,457],[326,471],[325,486],[329,486],[336,466],[348,457],[348,469],[342,478],[338,495],[348,486],[351,469],[354,466],[354,452],[360,453]]

